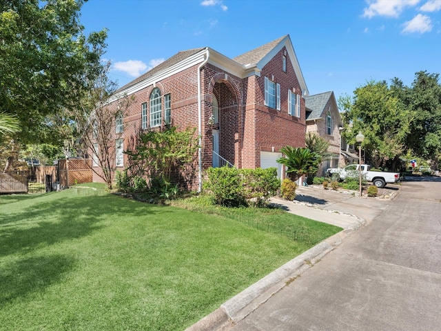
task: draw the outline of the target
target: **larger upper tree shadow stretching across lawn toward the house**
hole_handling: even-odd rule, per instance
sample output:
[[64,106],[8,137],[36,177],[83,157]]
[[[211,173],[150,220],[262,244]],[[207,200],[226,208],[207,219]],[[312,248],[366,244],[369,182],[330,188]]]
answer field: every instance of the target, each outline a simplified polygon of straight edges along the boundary
[[[26,253],[41,244],[87,236],[103,228],[101,221],[154,214],[152,205],[140,204],[110,194],[101,196],[54,197],[4,214],[0,221],[0,257]],[[17,205],[15,206],[16,209]],[[166,212],[166,210],[161,210]]]

